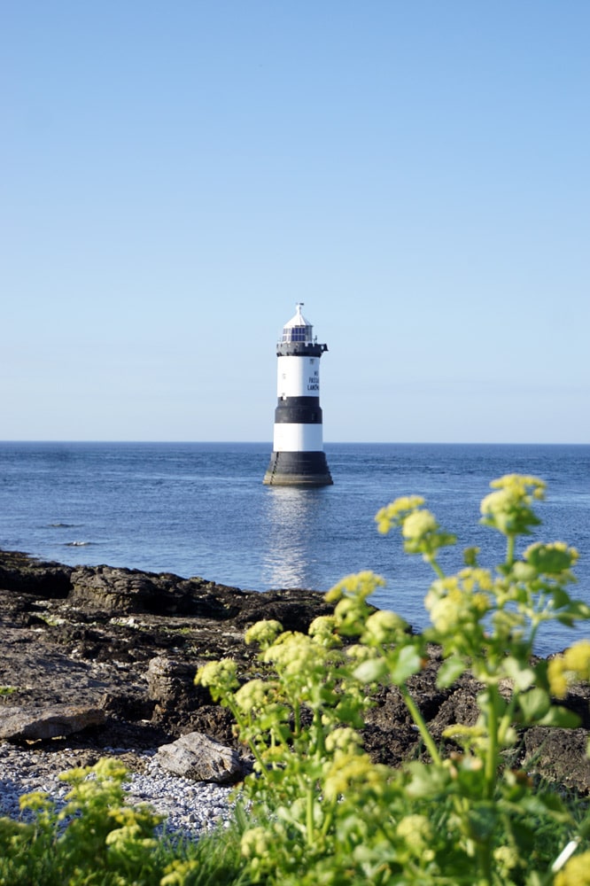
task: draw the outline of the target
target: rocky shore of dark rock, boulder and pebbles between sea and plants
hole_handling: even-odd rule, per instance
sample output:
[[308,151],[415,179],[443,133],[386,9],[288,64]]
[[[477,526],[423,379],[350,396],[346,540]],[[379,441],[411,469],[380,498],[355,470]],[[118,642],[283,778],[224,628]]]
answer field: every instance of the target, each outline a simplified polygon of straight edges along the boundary
[[[194,809],[202,805],[195,799],[197,786],[213,790],[206,812],[193,814],[195,827],[210,820],[210,809],[213,819],[219,818],[227,808],[227,785],[243,777],[249,760],[232,734],[228,711],[214,704],[207,690],[194,686],[195,672],[207,661],[229,656],[247,675],[255,664],[255,653],[243,639],[248,626],[276,618],[285,629],[307,631],[316,616],[329,612],[323,595],[312,590],[245,592],[201,578],[71,567],[0,551],[4,796],[7,785],[12,786],[11,797],[19,790],[43,789],[43,781],[54,784],[58,772],[116,755],[135,781],[149,776],[154,789],[144,781],[139,794],[152,804],[158,805],[158,792],[162,802],[180,796],[179,790],[170,789],[172,778],[178,789],[188,782]],[[452,723],[474,722],[478,691],[469,675],[453,688],[439,689],[439,663],[439,650],[432,648],[423,672],[410,681],[436,740]],[[564,702],[580,716],[578,729],[524,731],[517,765],[588,794],[589,699],[588,687],[581,687]],[[204,756],[202,744],[185,770],[169,768],[159,749],[187,735],[215,742],[209,769],[199,771],[194,765],[195,755]],[[383,689],[378,696],[363,738],[371,758],[391,766],[419,753],[418,736],[396,688]],[[36,781],[31,781],[31,772],[37,773]],[[174,815],[174,804],[164,805]],[[11,809],[4,804],[2,811]],[[189,826],[190,814],[181,816],[183,827]]]

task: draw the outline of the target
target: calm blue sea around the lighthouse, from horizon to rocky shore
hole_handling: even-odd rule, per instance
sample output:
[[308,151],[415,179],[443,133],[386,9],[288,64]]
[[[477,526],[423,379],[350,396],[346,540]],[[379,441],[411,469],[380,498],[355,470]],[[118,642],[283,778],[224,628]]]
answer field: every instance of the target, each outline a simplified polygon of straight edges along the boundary
[[[423,597],[433,575],[404,554],[397,532],[382,536],[375,515],[419,494],[454,532],[446,571],[462,548],[501,562],[501,535],[479,524],[493,478],[532,474],[547,482],[542,525],[520,543],[563,540],[578,548],[571,595],[590,604],[590,446],[331,443],[333,486],[263,486],[268,443],[0,442],[0,548],[70,565],[105,563],[200,576],[244,590],[327,591],[361,570],[386,585],[373,598],[415,628],[428,624]],[[590,635],[548,623],[545,656]]]

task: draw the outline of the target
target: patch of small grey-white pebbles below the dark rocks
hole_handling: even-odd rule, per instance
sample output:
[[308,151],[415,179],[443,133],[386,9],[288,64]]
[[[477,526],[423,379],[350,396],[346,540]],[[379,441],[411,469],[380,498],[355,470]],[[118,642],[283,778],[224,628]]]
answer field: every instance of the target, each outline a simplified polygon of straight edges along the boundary
[[[129,773],[123,785],[128,804],[147,803],[166,821],[159,833],[197,838],[203,831],[217,825],[228,827],[232,816],[230,794],[226,785],[190,781],[162,769],[156,751],[134,751],[128,748],[105,748],[102,757],[132,754],[137,771]],[[127,762],[127,759],[126,759]],[[70,786],[58,780],[58,773],[78,766],[75,754],[61,750],[58,757],[50,751],[29,750],[0,742],[0,816],[22,819],[19,797],[42,790],[56,801],[58,808],[66,803]]]

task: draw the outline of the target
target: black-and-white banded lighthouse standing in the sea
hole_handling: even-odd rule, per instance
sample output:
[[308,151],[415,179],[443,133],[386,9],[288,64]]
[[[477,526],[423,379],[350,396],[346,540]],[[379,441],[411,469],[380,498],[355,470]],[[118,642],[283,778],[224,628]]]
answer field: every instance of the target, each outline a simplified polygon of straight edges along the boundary
[[267,486],[330,486],[333,482],[322,441],[320,358],[327,345],[314,338],[314,327],[297,313],[283,327],[276,346],[278,403],[273,454],[262,481]]

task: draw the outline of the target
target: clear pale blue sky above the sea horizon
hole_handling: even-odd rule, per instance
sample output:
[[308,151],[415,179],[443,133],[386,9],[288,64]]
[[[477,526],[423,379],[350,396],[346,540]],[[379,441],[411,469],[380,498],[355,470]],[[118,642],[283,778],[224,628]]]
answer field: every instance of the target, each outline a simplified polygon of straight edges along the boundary
[[590,442],[587,0],[5,0],[0,439]]

